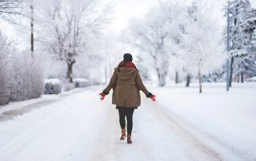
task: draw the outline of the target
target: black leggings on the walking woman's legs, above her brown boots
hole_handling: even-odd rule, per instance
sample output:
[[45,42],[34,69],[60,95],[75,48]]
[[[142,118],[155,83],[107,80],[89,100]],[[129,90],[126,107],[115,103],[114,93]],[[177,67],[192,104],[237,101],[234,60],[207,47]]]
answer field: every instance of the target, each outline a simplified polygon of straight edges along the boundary
[[134,108],[118,108],[119,123],[121,128],[126,128],[127,120],[127,134],[130,135],[133,130],[133,114]]

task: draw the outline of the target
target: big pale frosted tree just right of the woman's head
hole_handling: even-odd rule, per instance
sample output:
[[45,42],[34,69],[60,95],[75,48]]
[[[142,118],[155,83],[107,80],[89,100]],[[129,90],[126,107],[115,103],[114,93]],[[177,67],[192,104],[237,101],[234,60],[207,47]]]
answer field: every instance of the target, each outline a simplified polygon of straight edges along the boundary
[[181,3],[159,2],[144,18],[131,20],[125,32],[126,41],[138,49],[140,57],[153,62],[150,68],[154,68],[159,86],[166,84],[170,59],[178,52],[182,10]]

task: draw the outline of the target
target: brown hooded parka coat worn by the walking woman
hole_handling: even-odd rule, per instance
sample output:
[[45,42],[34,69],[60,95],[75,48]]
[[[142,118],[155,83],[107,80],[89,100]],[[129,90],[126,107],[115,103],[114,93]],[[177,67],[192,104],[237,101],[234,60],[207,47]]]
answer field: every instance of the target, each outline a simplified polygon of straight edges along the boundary
[[114,74],[110,83],[105,88],[105,92],[110,92],[113,88],[112,104],[119,107],[136,108],[141,104],[140,90],[145,94],[149,93],[138,69],[133,67],[121,67],[114,69]]

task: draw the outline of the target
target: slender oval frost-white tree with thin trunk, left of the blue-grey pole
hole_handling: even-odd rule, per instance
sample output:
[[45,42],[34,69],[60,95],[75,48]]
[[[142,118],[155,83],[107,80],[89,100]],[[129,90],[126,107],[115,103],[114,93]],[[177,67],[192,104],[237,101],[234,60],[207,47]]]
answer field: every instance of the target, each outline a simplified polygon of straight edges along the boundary
[[210,18],[204,1],[194,1],[187,15],[182,34],[183,58],[187,68],[196,73],[199,92],[202,92],[202,75],[212,73],[225,61],[220,27]]

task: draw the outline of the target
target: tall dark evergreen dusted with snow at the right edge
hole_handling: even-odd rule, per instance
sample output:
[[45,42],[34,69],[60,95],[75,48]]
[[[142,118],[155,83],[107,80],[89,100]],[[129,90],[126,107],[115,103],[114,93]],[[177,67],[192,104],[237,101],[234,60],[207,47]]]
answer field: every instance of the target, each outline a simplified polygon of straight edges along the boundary
[[230,14],[230,87],[233,75],[238,75],[243,81],[246,70],[254,65],[255,55],[252,36],[255,29],[255,12],[249,0],[232,0],[226,7]]

